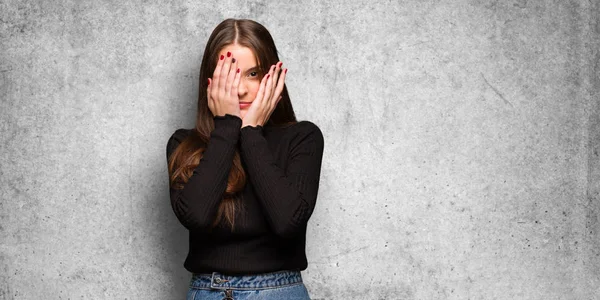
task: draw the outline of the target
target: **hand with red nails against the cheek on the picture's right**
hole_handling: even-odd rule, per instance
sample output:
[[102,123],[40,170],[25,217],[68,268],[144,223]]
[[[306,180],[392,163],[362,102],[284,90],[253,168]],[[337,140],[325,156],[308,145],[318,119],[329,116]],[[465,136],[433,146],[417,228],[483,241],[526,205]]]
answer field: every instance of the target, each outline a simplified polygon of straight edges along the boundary
[[[287,69],[281,69],[282,62],[271,66],[269,73],[263,77],[256,94],[256,99],[248,108],[248,112],[242,119],[242,128],[245,126],[264,126],[271,117],[281,99],[285,74]],[[280,74],[281,71],[281,74]]]

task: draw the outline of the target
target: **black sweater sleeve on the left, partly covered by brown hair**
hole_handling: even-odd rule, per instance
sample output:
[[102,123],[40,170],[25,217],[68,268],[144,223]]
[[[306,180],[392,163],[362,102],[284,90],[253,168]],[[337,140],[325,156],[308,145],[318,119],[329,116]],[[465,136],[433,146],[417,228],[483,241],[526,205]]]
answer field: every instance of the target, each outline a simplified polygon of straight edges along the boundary
[[[242,119],[226,114],[215,116],[214,124],[200,163],[183,189],[169,188],[171,207],[189,230],[207,230],[215,219],[233,165]],[[176,131],[169,138],[167,160],[182,140],[177,135]]]

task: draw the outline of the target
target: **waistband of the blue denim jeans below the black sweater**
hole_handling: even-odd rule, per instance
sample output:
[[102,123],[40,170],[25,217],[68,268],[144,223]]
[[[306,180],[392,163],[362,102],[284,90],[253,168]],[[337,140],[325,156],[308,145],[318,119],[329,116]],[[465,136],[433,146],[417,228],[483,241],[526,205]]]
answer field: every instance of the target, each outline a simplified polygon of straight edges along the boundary
[[218,272],[193,273],[190,288],[257,290],[282,287],[302,282],[300,271],[279,271],[253,275],[232,276]]

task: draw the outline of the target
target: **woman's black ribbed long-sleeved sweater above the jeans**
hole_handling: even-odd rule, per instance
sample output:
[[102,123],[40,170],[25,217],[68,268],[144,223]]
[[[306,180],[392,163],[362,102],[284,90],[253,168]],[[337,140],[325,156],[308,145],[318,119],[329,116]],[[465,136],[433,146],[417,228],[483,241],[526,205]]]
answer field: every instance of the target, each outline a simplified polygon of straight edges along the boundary
[[[242,126],[242,119],[214,117],[203,157],[183,189],[170,188],[175,215],[189,230],[184,267],[192,273],[241,275],[304,270],[306,225],[319,188],[323,135],[309,121],[288,127]],[[190,133],[177,129],[167,159]],[[227,186],[235,150],[246,171],[241,209],[233,231],[211,228]]]

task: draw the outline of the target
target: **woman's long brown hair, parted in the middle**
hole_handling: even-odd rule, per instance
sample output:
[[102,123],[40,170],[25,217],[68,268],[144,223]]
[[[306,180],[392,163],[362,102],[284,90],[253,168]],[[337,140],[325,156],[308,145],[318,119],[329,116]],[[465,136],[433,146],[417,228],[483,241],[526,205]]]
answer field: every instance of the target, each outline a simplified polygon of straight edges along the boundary
[[[210,133],[215,127],[214,116],[208,108],[206,95],[208,78],[212,77],[217,65],[217,55],[221,49],[232,44],[248,47],[253,51],[258,62],[259,78],[267,74],[270,66],[279,61],[273,38],[269,31],[261,24],[247,19],[227,19],[217,25],[206,43],[202,65],[200,66],[196,126],[192,129],[192,133],[181,142],[169,157],[169,183],[173,188],[183,188],[183,183],[186,183],[190,176],[192,176],[208,144]],[[277,107],[264,125],[265,127],[286,126],[297,122],[285,86],[281,96],[281,100],[279,100]],[[227,188],[212,224],[213,227],[225,220],[231,227],[231,230],[233,230],[235,213],[241,204],[239,192],[244,188],[245,184],[246,172],[242,166],[239,149],[236,149],[233,157],[233,165],[229,171]],[[202,199],[197,199],[197,201],[202,201]]]

